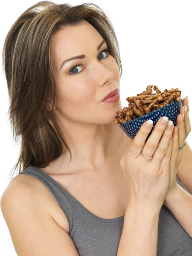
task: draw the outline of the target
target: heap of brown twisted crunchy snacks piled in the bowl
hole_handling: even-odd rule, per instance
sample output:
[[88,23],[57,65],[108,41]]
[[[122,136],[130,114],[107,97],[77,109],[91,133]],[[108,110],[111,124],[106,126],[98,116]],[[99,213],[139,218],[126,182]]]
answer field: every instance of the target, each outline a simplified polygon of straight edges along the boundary
[[156,93],[152,93],[153,85],[148,85],[143,93],[137,94],[137,96],[128,97],[126,100],[129,102],[128,107],[124,107],[122,111],[116,112],[115,125],[124,124],[134,120],[140,116],[144,116],[159,108],[163,108],[166,105],[175,101],[180,101],[181,91],[176,89],[167,90],[163,92],[154,85]]

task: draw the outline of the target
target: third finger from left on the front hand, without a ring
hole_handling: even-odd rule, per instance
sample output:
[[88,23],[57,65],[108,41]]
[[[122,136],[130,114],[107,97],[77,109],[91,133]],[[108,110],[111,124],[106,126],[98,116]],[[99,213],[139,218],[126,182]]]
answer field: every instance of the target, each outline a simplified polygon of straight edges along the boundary
[[154,163],[154,165],[157,165],[159,167],[161,165],[163,158],[165,157],[165,154],[166,154],[166,151],[169,146],[169,142],[170,142],[170,139],[171,139],[172,133],[173,133],[173,128],[174,128],[173,122],[169,121],[169,124],[171,124],[171,125],[167,125],[167,127],[166,127],[165,131],[163,132],[163,135],[160,139],[160,142],[157,145],[157,148],[154,152],[153,158],[151,160],[151,162]]

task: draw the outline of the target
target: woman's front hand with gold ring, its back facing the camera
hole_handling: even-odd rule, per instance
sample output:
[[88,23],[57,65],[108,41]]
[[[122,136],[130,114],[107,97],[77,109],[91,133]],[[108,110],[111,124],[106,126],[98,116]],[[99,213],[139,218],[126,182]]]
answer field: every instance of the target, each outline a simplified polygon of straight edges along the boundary
[[[145,140],[151,131],[152,124],[146,128],[146,122],[131,140],[131,145],[120,165],[128,181],[130,201],[145,206],[160,209],[169,187],[170,158],[172,154],[173,122],[161,124],[163,117],[156,123],[147,142]],[[171,123],[171,129],[168,124]],[[127,137],[127,136],[126,136]],[[128,137],[127,137],[128,138]],[[130,141],[130,138],[128,138]],[[153,158],[151,160],[145,157]]]

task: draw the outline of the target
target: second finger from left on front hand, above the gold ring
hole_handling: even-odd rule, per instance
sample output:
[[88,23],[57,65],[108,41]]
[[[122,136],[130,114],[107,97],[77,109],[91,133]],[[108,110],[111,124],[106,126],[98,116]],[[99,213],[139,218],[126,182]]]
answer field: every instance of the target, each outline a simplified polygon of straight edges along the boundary
[[[167,118],[167,122],[165,122],[164,124],[161,123],[161,121],[163,120],[163,117],[158,120],[157,124],[154,127],[154,130],[152,131],[150,137],[148,138],[145,147],[143,148],[142,154],[145,157],[151,157],[154,152],[156,151],[157,145],[160,142],[160,139],[162,137],[163,132],[165,131],[166,127],[168,126],[168,121],[169,119]],[[173,122],[171,122],[173,125]],[[170,136],[172,135],[172,131],[166,131],[166,134],[170,134]],[[165,153],[165,152],[164,152]]]

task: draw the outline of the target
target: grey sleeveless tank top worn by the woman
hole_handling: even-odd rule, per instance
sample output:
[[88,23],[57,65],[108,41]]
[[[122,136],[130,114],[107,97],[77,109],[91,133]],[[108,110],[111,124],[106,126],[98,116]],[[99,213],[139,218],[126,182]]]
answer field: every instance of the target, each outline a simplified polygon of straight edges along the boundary
[[[35,177],[47,187],[67,216],[69,235],[80,256],[116,256],[124,215],[113,219],[97,217],[37,167],[28,166],[20,174]],[[178,177],[177,183],[189,192]],[[192,238],[164,204],[159,216],[157,256],[192,256]]]

